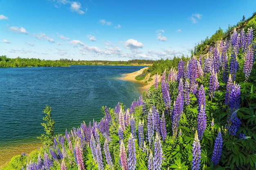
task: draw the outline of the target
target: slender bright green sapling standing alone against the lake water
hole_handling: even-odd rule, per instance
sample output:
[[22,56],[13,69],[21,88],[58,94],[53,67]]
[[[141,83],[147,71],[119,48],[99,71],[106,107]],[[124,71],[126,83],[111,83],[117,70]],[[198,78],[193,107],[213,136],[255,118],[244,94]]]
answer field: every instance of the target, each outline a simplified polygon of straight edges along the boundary
[[41,137],[37,137],[38,139],[41,139],[41,142],[46,146],[52,146],[53,145],[53,134],[54,134],[54,120],[52,119],[52,107],[49,107],[46,105],[44,109],[45,117],[43,117],[43,120],[46,121],[41,123],[42,126],[45,127],[45,133],[41,134]]

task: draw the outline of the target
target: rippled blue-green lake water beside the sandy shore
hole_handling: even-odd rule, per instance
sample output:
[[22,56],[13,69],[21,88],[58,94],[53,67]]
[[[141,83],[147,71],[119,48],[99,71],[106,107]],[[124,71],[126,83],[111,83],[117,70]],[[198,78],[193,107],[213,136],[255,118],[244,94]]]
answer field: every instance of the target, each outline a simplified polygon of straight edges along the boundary
[[99,121],[102,106],[130,106],[141,84],[121,80],[143,66],[72,65],[70,67],[0,68],[0,153],[5,148],[38,143],[44,133],[43,109],[52,107],[54,133],[81,122]]

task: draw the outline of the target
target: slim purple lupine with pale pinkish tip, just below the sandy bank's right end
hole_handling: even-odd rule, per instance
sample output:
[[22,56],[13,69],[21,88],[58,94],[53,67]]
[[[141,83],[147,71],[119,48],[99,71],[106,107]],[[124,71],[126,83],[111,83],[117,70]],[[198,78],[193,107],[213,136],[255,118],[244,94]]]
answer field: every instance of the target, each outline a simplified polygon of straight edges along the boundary
[[161,78],[161,90],[162,90],[164,105],[165,105],[165,108],[167,109],[171,107],[171,96],[169,92],[168,83],[165,81],[165,72],[166,70],[164,70],[163,76]]

